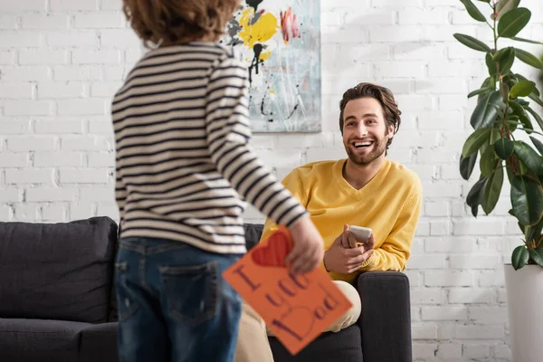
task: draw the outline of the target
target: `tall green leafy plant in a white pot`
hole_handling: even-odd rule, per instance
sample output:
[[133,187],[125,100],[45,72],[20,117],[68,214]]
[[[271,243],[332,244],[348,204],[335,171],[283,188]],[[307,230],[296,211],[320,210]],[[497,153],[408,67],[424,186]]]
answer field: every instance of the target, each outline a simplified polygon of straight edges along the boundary
[[[480,176],[466,196],[466,203],[477,217],[479,206],[491,214],[500,198],[504,174],[510,183],[510,214],[518,220],[522,243],[505,264],[510,317],[511,349],[515,362],[543,358],[543,119],[533,104],[543,107],[537,84],[514,71],[516,61],[539,70],[542,62],[522,50],[523,43],[543,45],[517,37],[529,23],[531,12],[519,7],[520,0],[460,0],[472,18],[486,23],[493,34],[487,44],[472,36],[455,33],[460,43],[481,52],[489,74],[481,88],[468,98],[477,97],[472,112],[472,134],[462,147],[460,173],[468,180],[479,161]],[[486,4],[483,4],[486,3]],[[490,16],[481,12],[485,7]],[[499,47],[509,39],[514,46]]]

